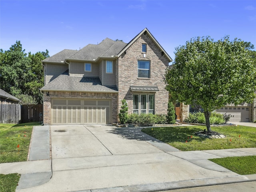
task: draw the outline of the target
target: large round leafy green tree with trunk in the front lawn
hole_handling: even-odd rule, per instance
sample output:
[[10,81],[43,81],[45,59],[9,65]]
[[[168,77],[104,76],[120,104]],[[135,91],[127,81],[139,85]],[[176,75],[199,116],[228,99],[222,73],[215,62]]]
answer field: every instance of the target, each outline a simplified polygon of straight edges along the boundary
[[212,132],[213,110],[255,98],[256,65],[241,40],[198,37],[176,48],[165,81],[172,98],[204,108],[207,131]]

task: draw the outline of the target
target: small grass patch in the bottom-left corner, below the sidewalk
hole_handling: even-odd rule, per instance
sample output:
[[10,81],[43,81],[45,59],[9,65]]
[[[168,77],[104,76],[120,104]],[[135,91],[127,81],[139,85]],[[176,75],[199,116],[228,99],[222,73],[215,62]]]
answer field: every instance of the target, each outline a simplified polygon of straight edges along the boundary
[[20,174],[0,174],[0,191],[2,192],[15,192],[17,184],[20,180]]

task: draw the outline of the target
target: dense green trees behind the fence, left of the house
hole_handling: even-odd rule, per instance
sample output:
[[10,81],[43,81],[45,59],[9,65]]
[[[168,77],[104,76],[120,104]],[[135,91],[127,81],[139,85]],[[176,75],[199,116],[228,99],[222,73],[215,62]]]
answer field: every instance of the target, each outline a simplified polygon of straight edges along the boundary
[[32,96],[37,103],[42,103],[39,88],[44,86],[44,72],[41,60],[49,57],[48,50],[27,54],[22,50],[20,41],[16,41],[10,50],[0,50],[0,87],[4,91],[24,98]]

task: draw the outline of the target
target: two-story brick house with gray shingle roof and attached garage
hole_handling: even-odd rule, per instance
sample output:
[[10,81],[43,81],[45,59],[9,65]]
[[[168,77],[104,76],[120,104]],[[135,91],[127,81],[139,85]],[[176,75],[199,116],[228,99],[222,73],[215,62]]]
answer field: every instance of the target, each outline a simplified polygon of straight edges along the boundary
[[167,114],[172,59],[147,28],[129,43],[104,39],[42,61],[44,124],[112,124],[128,113]]

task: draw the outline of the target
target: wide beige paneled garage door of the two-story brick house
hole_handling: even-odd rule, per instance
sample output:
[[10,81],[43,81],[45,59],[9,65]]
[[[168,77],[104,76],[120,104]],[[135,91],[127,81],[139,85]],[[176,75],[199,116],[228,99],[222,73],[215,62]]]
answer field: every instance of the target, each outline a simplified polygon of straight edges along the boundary
[[110,100],[52,99],[51,124],[110,124]]

